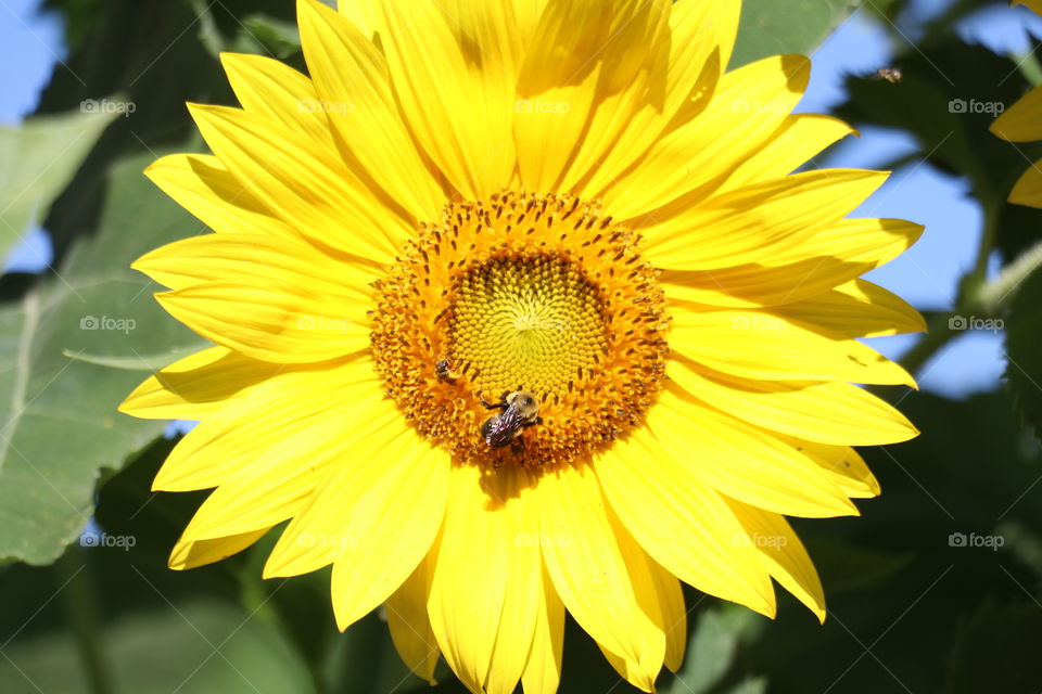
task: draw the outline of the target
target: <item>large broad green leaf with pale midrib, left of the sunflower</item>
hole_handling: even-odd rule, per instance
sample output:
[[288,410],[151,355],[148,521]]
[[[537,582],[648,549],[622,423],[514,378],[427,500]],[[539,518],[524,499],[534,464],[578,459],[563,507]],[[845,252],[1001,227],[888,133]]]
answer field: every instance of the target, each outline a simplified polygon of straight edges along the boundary
[[131,359],[204,344],[128,268],[155,246],[203,231],[141,175],[151,160],[114,167],[97,236],[81,239],[55,277],[0,309],[0,557],[54,561],[91,515],[101,468],[122,466],[165,426],[116,412],[140,373],[66,351]]

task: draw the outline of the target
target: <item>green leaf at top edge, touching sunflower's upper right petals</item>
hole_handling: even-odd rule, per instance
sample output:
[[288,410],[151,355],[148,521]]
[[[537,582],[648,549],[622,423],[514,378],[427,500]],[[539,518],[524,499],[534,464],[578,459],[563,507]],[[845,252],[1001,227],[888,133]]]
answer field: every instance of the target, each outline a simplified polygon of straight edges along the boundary
[[729,68],[768,55],[809,55],[856,7],[850,0],[745,0]]

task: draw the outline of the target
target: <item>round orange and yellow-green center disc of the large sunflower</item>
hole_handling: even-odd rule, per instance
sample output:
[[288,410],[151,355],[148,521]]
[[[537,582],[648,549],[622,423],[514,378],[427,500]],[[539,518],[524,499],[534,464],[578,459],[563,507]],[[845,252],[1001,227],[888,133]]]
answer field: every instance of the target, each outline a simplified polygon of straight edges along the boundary
[[[371,344],[387,394],[459,461],[556,464],[639,423],[665,373],[669,319],[639,239],[574,197],[454,203],[376,283]],[[541,423],[481,428],[526,390]]]

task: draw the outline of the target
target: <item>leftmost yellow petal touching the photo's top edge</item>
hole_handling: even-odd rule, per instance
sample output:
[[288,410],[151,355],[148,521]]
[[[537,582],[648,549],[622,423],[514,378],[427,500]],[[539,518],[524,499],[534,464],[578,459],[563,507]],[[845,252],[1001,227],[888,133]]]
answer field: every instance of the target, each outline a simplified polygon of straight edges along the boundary
[[[342,3],[341,12],[344,11]],[[376,7],[356,8],[366,23]],[[445,193],[420,158],[398,114],[387,62],[368,33],[316,0],[297,4],[304,56],[348,162],[372,177],[395,203],[421,221],[439,217]]]

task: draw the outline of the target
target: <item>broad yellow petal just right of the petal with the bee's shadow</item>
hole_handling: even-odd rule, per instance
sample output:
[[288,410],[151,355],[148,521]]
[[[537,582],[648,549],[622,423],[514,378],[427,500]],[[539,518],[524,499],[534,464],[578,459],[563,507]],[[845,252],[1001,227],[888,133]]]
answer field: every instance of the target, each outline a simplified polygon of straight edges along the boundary
[[665,658],[665,629],[645,551],[586,467],[543,475],[539,502],[543,554],[564,606],[603,651],[631,664],[627,679],[647,690]]

